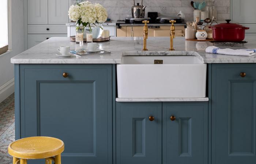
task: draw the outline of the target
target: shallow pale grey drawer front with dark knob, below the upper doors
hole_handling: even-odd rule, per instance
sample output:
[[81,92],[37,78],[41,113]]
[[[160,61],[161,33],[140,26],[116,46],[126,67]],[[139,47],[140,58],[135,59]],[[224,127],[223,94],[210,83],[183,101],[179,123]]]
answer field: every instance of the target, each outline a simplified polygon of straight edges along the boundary
[[67,34],[67,27],[65,24],[30,24],[27,34]]

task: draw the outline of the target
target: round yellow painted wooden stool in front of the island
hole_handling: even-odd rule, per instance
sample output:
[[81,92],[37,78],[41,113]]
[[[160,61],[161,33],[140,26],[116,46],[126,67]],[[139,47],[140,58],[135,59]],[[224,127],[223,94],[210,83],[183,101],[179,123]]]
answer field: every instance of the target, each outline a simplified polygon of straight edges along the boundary
[[53,137],[28,137],[12,142],[8,153],[13,164],[27,164],[28,159],[45,159],[46,164],[61,164],[64,142]]

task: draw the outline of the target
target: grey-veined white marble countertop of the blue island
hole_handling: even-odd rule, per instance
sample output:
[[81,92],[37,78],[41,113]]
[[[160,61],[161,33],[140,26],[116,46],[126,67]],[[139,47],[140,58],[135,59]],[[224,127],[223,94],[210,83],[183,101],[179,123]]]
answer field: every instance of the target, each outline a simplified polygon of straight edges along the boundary
[[[256,48],[256,34],[247,34],[248,43],[231,48]],[[203,63],[256,63],[254,56],[233,56],[207,54],[206,47],[212,46],[210,42],[186,41],[184,37],[174,39],[175,51],[169,51],[169,37],[149,37],[147,39],[148,51],[142,51],[142,37],[111,37],[109,42],[98,43],[99,48],[111,51],[110,54],[92,54],[85,56],[71,56],[62,58],[56,55],[60,46],[70,46],[74,50],[78,44],[70,42],[68,37],[56,37],[45,40],[42,43],[11,58],[15,64],[118,64],[123,55],[195,55]],[[225,48],[221,45],[215,46]],[[86,47],[86,43],[84,43]],[[230,47],[229,47],[230,48]]]

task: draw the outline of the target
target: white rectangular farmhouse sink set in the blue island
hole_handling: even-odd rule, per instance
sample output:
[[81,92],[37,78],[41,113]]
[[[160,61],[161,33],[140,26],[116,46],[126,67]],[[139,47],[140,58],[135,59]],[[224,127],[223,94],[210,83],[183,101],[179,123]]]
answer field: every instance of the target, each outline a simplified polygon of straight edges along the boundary
[[206,70],[196,56],[123,56],[117,65],[118,98],[203,98]]

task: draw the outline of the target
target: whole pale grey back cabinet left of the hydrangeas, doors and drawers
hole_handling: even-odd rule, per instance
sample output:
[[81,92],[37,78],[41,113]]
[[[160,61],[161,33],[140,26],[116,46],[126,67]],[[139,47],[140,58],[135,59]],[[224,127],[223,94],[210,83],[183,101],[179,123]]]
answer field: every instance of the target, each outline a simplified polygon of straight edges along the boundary
[[25,49],[51,37],[67,36],[68,0],[25,0],[27,42]]

